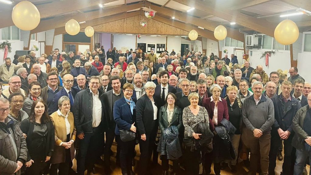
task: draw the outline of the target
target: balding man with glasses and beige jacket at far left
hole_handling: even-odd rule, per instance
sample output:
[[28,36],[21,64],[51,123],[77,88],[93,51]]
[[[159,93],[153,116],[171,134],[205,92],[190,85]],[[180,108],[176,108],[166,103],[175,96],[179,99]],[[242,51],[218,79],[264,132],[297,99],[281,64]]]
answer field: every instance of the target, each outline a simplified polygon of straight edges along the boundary
[[2,91],[3,96],[6,96],[7,98],[10,96],[10,94],[14,92],[21,92],[24,96],[26,96],[26,92],[21,89],[21,78],[17,75],[13,75],[9,79],[9,88]]

